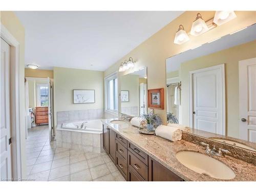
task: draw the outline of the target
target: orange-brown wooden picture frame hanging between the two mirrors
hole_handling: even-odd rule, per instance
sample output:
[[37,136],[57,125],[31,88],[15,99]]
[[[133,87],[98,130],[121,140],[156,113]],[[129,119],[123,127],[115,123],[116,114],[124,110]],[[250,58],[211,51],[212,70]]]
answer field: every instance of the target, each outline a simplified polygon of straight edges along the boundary
[[163,88],[151,89],[147,91],[148,108],[164,109]]

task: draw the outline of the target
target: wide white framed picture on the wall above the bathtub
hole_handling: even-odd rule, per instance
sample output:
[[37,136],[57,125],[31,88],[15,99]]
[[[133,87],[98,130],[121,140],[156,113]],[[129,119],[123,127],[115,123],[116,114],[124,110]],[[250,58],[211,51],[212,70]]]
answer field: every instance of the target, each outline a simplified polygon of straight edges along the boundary
[[95,103],[95,90],[73,90],[73,103]]

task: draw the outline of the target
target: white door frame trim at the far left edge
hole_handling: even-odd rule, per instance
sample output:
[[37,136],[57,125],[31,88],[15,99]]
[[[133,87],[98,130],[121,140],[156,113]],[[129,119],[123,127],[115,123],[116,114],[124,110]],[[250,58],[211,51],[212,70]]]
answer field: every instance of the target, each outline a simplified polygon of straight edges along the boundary
[[[1,23],[0,23],[1,24]],[[22,179],[22,154],[20,149],[19,110],[19,42],[1,24],[1,38],[10,45],[10,85],[11,85],[11,137],[12,137],[12,177]],[[25,118],[25,117],[24,117]]]

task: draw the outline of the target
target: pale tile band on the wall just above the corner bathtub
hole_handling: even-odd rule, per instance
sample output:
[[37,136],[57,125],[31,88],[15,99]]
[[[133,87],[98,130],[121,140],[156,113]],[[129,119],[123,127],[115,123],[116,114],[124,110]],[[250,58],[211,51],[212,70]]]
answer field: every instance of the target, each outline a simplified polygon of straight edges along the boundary
[[60,112],[57,112],[57,124],[74,122],[74,121],[83,121],[83,120],[115,118],[115,117],[117,117],[117,115],[104,112],[104,109],[60,111]]

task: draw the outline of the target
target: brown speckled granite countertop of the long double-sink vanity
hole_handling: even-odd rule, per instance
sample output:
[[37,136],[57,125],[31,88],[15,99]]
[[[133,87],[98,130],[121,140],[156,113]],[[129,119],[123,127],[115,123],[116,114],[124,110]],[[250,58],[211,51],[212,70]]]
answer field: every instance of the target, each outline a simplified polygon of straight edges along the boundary
[[140,134],[138,127],[131,125],[130,122],[125,122],[124,124],[113,124],[110,122],[112,120],[117,120],[117,118],[103,119],[102,122],[109,125],[112,130],[120,134],[135,146],[139,147],[148,156],[167,167],[185,181],[256,181],[255,165],[230,156],[211,157],[230,167],[234,174],[236,174],[236,177],[233,179],[221,180],[196,173],[181,164],[176,158],[176,153],[181,150],[193,150],[206,155],[203,146],[199,146],[185,140],[172,142],[155,135]]

